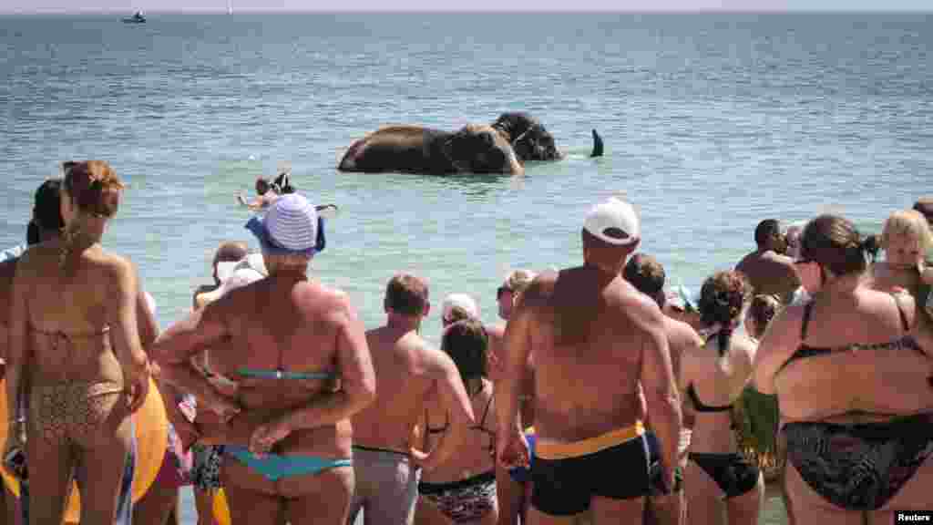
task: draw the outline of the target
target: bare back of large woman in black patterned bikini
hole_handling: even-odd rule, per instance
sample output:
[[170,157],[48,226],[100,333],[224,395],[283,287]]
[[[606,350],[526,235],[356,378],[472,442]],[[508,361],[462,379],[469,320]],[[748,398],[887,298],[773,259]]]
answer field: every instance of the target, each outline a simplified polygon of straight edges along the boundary
[[863,290],[857,297],[855,307],[832,298],[817,298],[811,306],[805,337],[774,380],[785,419],[886,419],[933,411],[931,361],[904,337],[913,302],[898,300],[901,317],[887,293]]

